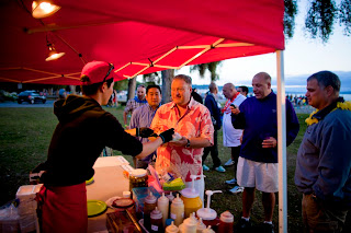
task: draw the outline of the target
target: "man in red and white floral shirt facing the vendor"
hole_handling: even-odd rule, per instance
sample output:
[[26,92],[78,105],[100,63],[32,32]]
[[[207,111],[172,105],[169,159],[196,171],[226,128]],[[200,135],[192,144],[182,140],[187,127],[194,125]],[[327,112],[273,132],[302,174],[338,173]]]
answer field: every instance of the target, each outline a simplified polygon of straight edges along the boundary
[[[171,84],[172,102],[159,107],[150,128],[155,132],[174,128],[182,138],[157,149],[156,171],[174,172],[191,185],[191,175],[201,175],[203,148],[213,145],[214,128],[210,110],[191,97],[191,78],[179,74]],[[204,179],[195,180],[195,189],[203,200]]]

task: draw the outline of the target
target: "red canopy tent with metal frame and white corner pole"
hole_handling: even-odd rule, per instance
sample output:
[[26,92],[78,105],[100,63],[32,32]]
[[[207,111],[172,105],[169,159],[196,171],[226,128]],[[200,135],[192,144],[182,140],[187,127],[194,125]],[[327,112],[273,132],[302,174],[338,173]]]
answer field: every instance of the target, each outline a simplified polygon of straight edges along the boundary
[[[280,232],[287,231],[283,0],[31,0],[0,3],[0,82],[79,84],[84,62],[113,62],[120,79],[278,51]],[[66,55],[45,61],[47,43]]]

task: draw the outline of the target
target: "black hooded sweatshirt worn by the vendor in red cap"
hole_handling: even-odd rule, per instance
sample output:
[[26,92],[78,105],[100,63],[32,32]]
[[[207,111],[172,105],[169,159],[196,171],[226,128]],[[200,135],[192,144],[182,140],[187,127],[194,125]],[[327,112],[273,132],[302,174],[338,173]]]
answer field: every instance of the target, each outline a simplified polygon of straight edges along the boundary
[[42,179],[46,186],[83,183],[104,147],[137,155],[143,144],[118,120],[88,96],[69,95],[54,104],[59,123],[54,131]]

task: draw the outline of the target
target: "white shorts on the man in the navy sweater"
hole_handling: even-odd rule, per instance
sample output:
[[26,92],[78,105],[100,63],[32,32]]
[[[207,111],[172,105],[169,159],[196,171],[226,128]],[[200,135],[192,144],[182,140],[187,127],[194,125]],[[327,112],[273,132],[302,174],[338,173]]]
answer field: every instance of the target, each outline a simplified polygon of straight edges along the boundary
[[278,163],[261,163],[239,156],[237,182],[241,187],[264,193],[278,191]]

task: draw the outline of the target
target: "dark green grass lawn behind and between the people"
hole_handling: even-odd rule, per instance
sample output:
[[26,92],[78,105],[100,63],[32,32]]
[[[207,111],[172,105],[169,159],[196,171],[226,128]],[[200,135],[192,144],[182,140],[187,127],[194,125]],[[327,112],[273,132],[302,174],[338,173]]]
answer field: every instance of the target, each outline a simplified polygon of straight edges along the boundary
[[[116,116],[120,123],[123,121],[123,107],[105,109]],[[301,232],[303,230],[301,219],[302,195],[294,185],[294,172],[296,153],[306,129],[304,123],[307,114],[298,115],[301,131],[294,143],[287,148],[288,232]],[[57,118],[53,114],[53,108],[0,108],[0,206],[12,200],[19,186],[29,184],[29,172],[46,160],[48,144],[56,124]],[[230,158],[230,152],[228,148],[224,148],[222,144],[220,130],[218,133],[218,150],[224,164]],[[114,154],[121,153],[114,151]],[[131,156],[125,158],[132,162]],[[205,163],[212,167],[211,156],[207,158]],[[215,209],[217,213],[229,210],[234,213],[235,222],[237,222],[241,212],[241,194],[233,195],[228,191],[230,186],[225,184],[225,180],[233,178],[233,166],[228,167],[226,173],[205,172],[205,183],[206,189],[223,190],[223,194],[212,196],[211,208]],[[257,191],[251,213],[253,224],[262,222],[263,208],[260,200],[261,194]],[[273,220],[276,232],[278,218],[276,203]]]

